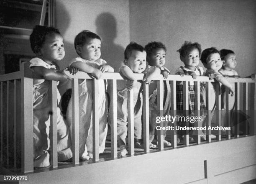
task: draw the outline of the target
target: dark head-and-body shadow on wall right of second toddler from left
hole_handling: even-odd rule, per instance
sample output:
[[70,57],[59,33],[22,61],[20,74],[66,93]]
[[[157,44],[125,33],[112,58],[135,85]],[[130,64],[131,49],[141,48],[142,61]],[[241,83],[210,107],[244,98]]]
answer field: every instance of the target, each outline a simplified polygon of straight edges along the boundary
[[97,34],[102,38],[101,58],[118,72],[123,63],[124,48],[114,43],[117,37],[117,21],[111,13],[105,12],[97,16],[95,25]]

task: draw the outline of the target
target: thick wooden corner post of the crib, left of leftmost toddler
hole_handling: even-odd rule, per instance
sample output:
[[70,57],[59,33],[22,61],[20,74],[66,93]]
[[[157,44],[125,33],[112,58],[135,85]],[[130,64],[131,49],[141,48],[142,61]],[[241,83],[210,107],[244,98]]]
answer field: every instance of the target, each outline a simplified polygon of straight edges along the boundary
[[21,171],[33,171],[33,79],[29,63],[21,71]]

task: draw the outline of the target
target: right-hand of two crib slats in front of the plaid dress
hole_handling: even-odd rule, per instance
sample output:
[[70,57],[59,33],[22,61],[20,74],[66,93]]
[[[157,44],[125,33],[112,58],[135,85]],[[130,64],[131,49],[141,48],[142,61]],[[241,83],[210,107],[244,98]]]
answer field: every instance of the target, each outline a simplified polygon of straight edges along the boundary
[[[195,90],[195,116],[199,117],[200,116],[200,82],[195,81],[194,82],[194,90]],[[198,121],[194,123],[195,127],[198,127]],[[196,132],[196,143],[200,144],[201,143],[201,136],[199,133],[199,130],[195,130]]]

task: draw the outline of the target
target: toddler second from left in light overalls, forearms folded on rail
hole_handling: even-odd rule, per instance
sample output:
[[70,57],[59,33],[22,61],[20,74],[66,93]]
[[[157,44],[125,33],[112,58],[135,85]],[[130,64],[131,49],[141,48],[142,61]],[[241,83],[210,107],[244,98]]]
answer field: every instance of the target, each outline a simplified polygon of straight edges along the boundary
[[[77,67],[79,71],[91,74],[96,79],[102,77],[102,72],[114,72],[105,60],[100,59],[100,45],[101,38],[97,34],[91,31],[80,32],[74,39],[79,57],[73,59],[70,66]],[[99,104],[99,152],[103,153],[108,130],[108,100],[104,80],[99,80],[99,90],[95,95]],[[82,161],[92,158],[92,103],[92,80],[79,79],[79,158]],[[72,100],[67,109],[67,121],[72,127]]]

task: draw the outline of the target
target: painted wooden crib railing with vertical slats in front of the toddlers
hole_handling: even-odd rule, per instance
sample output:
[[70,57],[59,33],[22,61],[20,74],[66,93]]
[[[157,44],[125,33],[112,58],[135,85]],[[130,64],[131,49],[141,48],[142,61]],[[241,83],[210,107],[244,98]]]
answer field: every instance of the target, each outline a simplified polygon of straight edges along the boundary
[[[73,165],[79,164],[79,103],[78,103],[78,79],[88,79],[92,80],[92,88],[93,88],[93,161],[99,161],[99,117],[98,117],[98,103],[97,91],[99,90],[99,80],[92,79],[88,74],[84,72],[78,72],[76,75],[71,75],[68,72],[66,73],[69,77],[72,78],[72,152],[73,152]],[[136,74],[137,80],[143,79],[143,74]],[[119,73],[104,73],[102,79],[108,80],[109,90],[110,91],[110,127],[111,127],[111,158],[117,158],[118,156],[118,145],[117,145],[117,80],[124,80],[123,77]],[[176,116],[176,82],[183,81],[183,102],[184,102],[184,110],[189,109],[188,104],[188,86],[189,81],[194,81],[195,85],[195,110],[200,110],[200,82],[205,82],[205,91],[206,91],[206,108],[208,113],[210,113],[210,85],[208,77],[197,77],[197,79],[192,79],[191,76],[180,77],[178,75],[169,75],[167,79],[164,79],[161,75],[155,77],[154,80],[157,81],[157,108],[158,110],[163,110],[163,81],[169,81],[171,87],[171,115]],[[235,108],[236,110],[241,110],[243,106],[243,110],[256,110],[256,84],[255,80],[250,78],[241,78],[241,79],[233,79],[229,78],[229,82],[235,83]],[[20,94],[18,94],[17,82],[20,82]],[[12,89],[10,89],[10,83],[13,83]],[[241,84],[241,85],[240,85]],[[143,85],[143,145],[144,145],[144,153],[147,154],[150,152],[149,149],[149,102],[148,102],[148,84]],[[4,89],[6,86],[6,94],[4,94]],[[50,123],[50,143],[51,143],[51,167],[58,167],[57,160],[57,125],[56,125],[56,82],[52,81],[51,84],[51,99],[52,99],[52,111],[51,115],[51,123]],[[220,90],[217,87],[217,90]],[[10,96],[8,95],[12,91],[12,100],[10,100]],[[6,168],[17,168],[16,160],[18,158],[16,154],[16,141],[19,137],[16,135],[17,132],[20,132],[20,152],[21,152],[21,173],[33,172],[33,75],[30,69],[28,69],[28,64],[22,64],[21,70],[19,72],[14,72],[11,74],[4,74],[0,76],[0,133],[1,133],[1,150],[0,150],[0,161],[1,166]],[[4,99],[6,97],[6,99]],[[17,102],[17,98],[20,97],[20,104]],[[226,104],[229,101],[229,95],[227,92],[226,95]],[[241,97],[243,102],[240,103]],[[220,95],[216,92],[216,112],[217,112],[217,124],[221,125],[221,116],[220,116]],[[250,102],[250,103],[248,103]],[[6,108],[4,104],[6,103]],[[12,105],[10,105],[12,104]],[[127,108],[128,108],[128,155],[134,155],[134,130],[133,130],[133,89],[128,91],[128,100],[127,100]],[[13,110],[10,110],[13,108]],[[228,109],[228,108],[227,108]],[[6,111],[5,111],[6,110]],[[5,113],[4,113],[5,112]],[[162,113],[160,111],[160,113]],[[5,115],[4,115],[5,114]],[[162,115],[162,114],[160,114]],[[5,116],[5,120],[4,117]],[[20,116],[20,120],[17,117]],[[12,117],[12,122],[10,122],[9,118]],[[210,125],[210,116],[208,117],[207,125]],[[228,126],[230,126],[230,115],[227,111],[226,117],[228,120]],[[253,114],[253,119],[256,119],[256,113]],[[13,125],[13,128],[10,131],[10,125]],[[20,125],[17,130],[17,125]],[[174,122],[172,126],[177,125],[177,122]],[[253,127],[251,127],[251,135],[256,133],[256,128],[254,123],[252,123]],[[4,129],[5,126],[5,129]],[[246,125],[247,127],[247,125]],[[177,148],[177,134],[175,130],[170,130],[171,135],[171,143],[172,148]],[[10,136],[10,134],[12,134]],[[199,133],[198,133],[199,134]],[[197,134],[197,135],[198,135]],[[4,135],[6,138],[4,138]],[[207,142],[210,143],[211,140],[211,132],[207,130],[206,137]],[[246,130],[245,135],[248,135],[248,130]],[[200,136],[200,135],[198,135]],[[10,141],[10,137],[13,141]],[[235,138],[239,137],[239,126],[236,127]],[[158,138],[158,149],[164,150],[164,135],[162,130],[157,131]],[[231,138],[230,131],[227,132],[226,139]],[[200,144],[200,137],[196,139],[196,143]],[[221,133],[219,131],[217,135],[217,141],[221,141]],[[13,142],[13,145],[10,145],[10,142]],[[184,146],[189,145],[189,135],[184,135],[183,140]],[[6,148],[3,148],[5,145]],[[10,156],[10,150],[13,150],[13,155]],[[6,162],[4,161],[4,157],[6,158]],[[14,164],[10,165],[10,158],[14,159]]]

